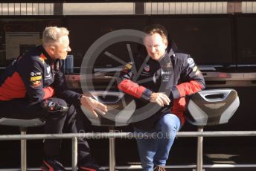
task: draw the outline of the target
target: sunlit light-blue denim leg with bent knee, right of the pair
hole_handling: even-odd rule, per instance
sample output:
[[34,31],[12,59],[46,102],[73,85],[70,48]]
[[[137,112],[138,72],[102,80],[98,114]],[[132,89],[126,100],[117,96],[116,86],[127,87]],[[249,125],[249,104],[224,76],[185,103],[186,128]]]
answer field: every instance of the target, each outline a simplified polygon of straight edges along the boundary
[[157,123],[157,150],[153,161],[155,166],[165,166],[179,127],[180,120],[175,114],[165,114]]

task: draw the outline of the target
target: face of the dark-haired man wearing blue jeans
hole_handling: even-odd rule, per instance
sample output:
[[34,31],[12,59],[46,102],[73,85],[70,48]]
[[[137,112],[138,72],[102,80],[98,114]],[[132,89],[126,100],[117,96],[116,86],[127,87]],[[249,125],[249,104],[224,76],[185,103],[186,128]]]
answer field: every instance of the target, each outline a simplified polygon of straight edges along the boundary
[[144,37],[144,45],[147,49],[147,54],[155,60],[159,60],[164,55],[167,44],[167,39],[163,39],[159,33]]

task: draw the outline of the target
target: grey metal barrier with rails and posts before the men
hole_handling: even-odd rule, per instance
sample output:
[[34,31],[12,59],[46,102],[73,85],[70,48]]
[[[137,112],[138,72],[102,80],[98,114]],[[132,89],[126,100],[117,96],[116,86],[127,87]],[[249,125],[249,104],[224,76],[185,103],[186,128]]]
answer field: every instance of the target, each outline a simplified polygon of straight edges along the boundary
[[[0,135],[0,141],[11,140],[38,140],[38,139],[72,139],[72,167],[77,170],[77,138],[111,138],[109,141],[109,171],[115,171],[115,138],[156,138],[156,134],[142,135],[133,132],[89,132],[89,133],[68,133],[68,134],[33,134],[33,135]],[[256,136],[256,131],[217,131],[217,132],[178,132],[177,137],[247,137]],[[197,152],[197,155],[202,153]],[[197,156],[202,158],[202,156]],[[228,167],[226,165],[225,167]],[[242,167],[240,164],[238,167]],[[194,168],[190,166],[189,168]],[[197,166],[196,166],[197,167]],[[207,167],[207,166],[205,166]],[[220,166],[219,166],[220,167]],[[256,164],[248,164],[244,167],[256,167]],[[167,167],[168,168],[168,167]],[[121,169],[121,168],[120,168]],[[201,168],[202,169],[202,168]],[[199,169],[200,170],[200,169]]]

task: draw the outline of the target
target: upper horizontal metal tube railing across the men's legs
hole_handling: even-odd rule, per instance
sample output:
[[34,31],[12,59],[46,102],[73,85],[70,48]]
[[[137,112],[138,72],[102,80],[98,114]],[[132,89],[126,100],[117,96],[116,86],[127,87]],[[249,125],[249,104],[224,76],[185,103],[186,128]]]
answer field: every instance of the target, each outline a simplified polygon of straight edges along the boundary
[[[67,138],[155,138],[156,135],[132,132],[89,132],[65,134],[32,134],[32,135],[0,135],[0,141],[36,140],[36,139],[67,139]],[[177,137],[246,137],[256,136],[256,131],[216,131],[216,132],[178,132]]]

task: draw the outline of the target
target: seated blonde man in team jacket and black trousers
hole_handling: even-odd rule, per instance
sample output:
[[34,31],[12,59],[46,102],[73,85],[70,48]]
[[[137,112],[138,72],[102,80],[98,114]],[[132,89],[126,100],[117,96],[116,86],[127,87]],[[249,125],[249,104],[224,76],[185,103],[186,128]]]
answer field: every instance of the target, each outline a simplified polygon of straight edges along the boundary
[[[0,79],[0,117],[42,118],[45,133],[77,133],[83,130],[84,114],[80,105],[106,112],[106,106],[65,86],[63,59],[71,51],[68,30],[48,27],[42,45],[32,48],[9,65]],[[78,140],[80,170],[100,170],[89,152],[86,140]],[[59,161],[60,140],[44,141],[42,170],[65,170]]]

